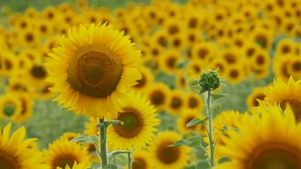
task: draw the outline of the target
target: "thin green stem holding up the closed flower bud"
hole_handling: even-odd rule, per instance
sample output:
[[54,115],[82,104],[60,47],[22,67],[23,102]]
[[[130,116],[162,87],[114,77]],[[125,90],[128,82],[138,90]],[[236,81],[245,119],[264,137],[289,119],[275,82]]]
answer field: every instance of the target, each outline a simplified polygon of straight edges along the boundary
[[212,91],[207,91],[207,100],[206,100],[206,108],[207,108],[207,116],[208,119],[208,138],[209,138],[209,147],[210,147],[210,166],[214,167],[214,142],[213,142],[213,116],[212,116],[212,104],[211,104],[211,94]]

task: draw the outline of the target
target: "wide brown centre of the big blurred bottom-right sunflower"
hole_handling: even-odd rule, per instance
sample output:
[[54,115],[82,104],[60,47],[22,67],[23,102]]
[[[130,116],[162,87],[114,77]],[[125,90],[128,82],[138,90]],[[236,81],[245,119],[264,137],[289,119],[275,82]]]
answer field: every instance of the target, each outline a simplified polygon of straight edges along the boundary
[[250,154],[245,169],[301,169],[301,150],[279,143],[261,145]]

